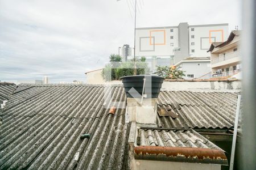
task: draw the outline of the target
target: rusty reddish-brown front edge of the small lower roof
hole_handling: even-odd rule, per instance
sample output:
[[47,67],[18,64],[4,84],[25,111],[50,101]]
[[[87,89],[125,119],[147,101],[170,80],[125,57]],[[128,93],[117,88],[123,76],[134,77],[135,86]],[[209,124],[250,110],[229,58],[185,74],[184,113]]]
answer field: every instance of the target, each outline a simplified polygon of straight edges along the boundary
[[209,148],[138,146],[134,152],[135,159],[228,165],[224,151]]

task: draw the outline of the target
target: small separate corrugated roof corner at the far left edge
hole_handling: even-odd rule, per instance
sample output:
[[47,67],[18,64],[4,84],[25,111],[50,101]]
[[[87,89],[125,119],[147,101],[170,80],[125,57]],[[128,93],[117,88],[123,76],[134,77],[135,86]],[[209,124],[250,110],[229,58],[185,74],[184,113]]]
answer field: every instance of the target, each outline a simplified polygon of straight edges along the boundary
[[14,83],[0,82],[0,104],[2,104],[4,100],[10,99],[10,95],[15,88],[16,85]]

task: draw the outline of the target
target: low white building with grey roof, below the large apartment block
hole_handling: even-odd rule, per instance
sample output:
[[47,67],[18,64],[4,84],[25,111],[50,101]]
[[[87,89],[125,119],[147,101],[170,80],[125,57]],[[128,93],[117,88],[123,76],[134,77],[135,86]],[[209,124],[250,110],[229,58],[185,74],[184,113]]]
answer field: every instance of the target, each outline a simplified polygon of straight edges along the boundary
[[185,72],[184,79],[200,78],[210,73],[210,57],[189,57],[178,62],[176,66]]

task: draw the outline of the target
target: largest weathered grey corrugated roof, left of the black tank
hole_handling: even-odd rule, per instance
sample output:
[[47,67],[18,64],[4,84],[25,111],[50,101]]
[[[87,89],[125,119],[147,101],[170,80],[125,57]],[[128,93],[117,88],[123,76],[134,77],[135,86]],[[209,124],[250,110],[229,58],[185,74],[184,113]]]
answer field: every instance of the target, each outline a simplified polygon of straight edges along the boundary
[[[110,101],[125,100],[121,86]],[[109,114],[104,87],[19,86],[2,113],[0,169],[126,169],[125,109]],[[80,135],[90,138],[80,139]]]

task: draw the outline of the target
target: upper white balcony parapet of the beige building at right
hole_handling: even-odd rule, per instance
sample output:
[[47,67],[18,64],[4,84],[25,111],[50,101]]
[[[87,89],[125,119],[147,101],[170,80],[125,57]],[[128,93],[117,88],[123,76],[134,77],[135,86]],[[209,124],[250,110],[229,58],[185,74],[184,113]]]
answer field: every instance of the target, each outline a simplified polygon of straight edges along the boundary
[[236,52],[228,53],[218,58],[214,58],[211,61],[212,68],[228,65],[234,62],[240,62],[241,61],[240,56],[241,56],[241,53],[240,53],[240,50],[238,50]]

